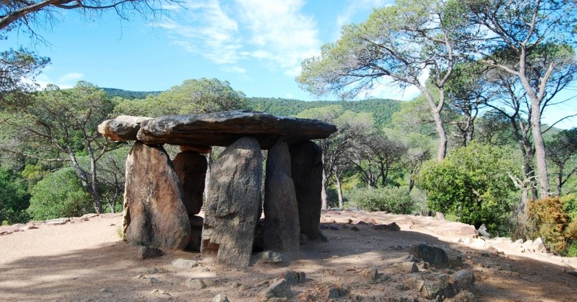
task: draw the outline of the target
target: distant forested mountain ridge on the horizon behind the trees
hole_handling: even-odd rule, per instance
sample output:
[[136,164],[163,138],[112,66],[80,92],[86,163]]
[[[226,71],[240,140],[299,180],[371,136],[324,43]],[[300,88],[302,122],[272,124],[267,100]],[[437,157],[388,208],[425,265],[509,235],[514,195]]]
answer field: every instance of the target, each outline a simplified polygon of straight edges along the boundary
[[[147,95],[159,95],[163,91],[128,91],[102,88],[109,97],[123,97],[128,100],[144,99]],[[247,97],[247,108],[270,113],[271,115],[293,116],[310,108],[340,105],[356,113],[373,113],[376,124],[388,125],[393,113],[400,111],[403,101],[390,99],[367,99],[360,101],[302,101],[278,97]]]

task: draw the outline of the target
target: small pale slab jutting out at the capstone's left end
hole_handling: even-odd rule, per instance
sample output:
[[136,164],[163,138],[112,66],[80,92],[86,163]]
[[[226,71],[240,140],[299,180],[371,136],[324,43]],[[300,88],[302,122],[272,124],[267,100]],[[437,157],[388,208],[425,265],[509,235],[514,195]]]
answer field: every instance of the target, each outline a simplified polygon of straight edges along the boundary
[[115,119],[107,119],[98,125],[98,132],[113,141],[135,141],[140,124],[150,117],[131,117],[120,115]]

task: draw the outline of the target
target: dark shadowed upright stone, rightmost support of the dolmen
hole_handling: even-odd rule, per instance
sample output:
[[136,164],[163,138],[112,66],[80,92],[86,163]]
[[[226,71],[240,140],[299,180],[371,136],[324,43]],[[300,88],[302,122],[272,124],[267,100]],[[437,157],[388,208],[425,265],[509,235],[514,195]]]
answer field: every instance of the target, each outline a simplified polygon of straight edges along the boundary
[[321,220],[321,148],[313,141],[291,146],[291,171],[299,207],[300,232],[310,240],[324,240],[319,230]]

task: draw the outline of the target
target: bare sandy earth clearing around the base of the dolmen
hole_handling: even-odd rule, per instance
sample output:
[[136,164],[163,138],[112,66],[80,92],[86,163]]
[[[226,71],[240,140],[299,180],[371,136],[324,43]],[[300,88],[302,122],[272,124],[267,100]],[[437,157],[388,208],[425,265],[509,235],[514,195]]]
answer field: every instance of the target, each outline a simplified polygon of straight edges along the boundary
[[[361,220],[396,222],[401,231],[374,230],[370,224],[357,224]],[[329,227],[324,230],[329,242],[308,242],[299,253],[286,255],[290,261],[284,265],[253,264],[253,260],[245,270],[217,268],[211,259],[188,252],[169,251],[139,260],[138,246],[119,241],[122,214],[71,218],[61,225],[1,227],[0,233],[8,233],[0,236],[0,301],[212,301],[216,294],[226,294],[231,302],[258,301],[258,293],[266,288],[263,281],[278,278],[287,269],[306,272],[308,278],[292,286],[288,301],[329,301],[331,286],[348,288],[348,294],[336,301],[402,297],[427,301],[405,286],[405,280],[420,272],[400,268],[410,246],[419,242],[439,246],[449,257],[462,256],[464,268],[475,274],[478,301],[577,301],[577,276],[569,273],[576,271],[577,258],[521,253],[519,244],[498,240],[483,247],[478,241],[457,242],[466,238],[455,232],[464,224],[435,218],[324,211],[321,222]],[[15,229],[24,230],[10,233]],[[176,268],[171,262],[178,258],[199,260],[203,267]],[[360,274],[372,267],[390,279],[372,282]],[[137,275],[145,278],[133,279]],[[191,277],[214,279],[216,285],[192,290],[183,284]]]

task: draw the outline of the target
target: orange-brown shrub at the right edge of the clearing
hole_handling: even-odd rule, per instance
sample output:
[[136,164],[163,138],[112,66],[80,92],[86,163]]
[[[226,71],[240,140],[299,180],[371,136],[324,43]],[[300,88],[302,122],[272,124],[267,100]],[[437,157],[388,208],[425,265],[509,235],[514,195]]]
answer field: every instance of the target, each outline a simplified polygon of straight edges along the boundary
[[532,236],[541,237],[545,246],[564,255],[569,246],[577,242],[577,221],[563,210],[563,200],[559,197],[547,197],[529,203],[529,215],[534,227]]

